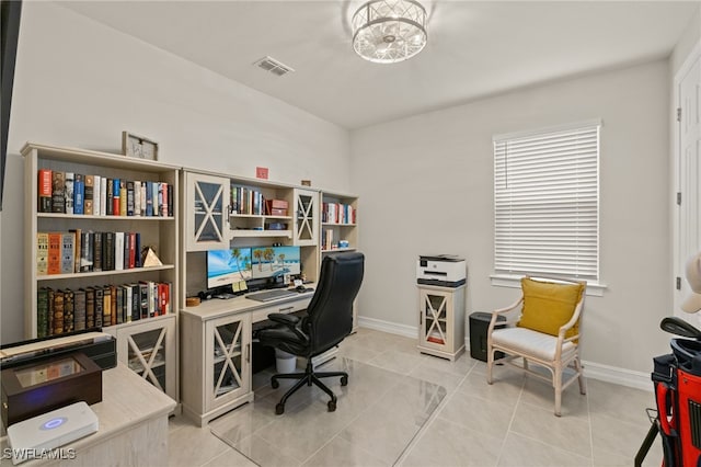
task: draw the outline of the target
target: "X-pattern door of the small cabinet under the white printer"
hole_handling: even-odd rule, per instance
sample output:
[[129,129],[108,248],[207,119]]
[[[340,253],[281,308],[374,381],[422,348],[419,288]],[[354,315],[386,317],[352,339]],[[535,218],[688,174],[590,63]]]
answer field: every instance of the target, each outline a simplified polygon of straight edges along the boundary
[[421,314],[421,345],[452,349],[453,294],[450,292],[418,289]]

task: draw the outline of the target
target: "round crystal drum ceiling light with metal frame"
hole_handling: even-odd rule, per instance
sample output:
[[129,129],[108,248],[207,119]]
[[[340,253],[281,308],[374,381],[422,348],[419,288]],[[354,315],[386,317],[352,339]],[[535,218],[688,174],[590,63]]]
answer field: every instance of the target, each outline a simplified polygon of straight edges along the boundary
[[406,60],[427,38],[426,10],[414,0],[370,0],[353,15],[353,48],[376,64]]

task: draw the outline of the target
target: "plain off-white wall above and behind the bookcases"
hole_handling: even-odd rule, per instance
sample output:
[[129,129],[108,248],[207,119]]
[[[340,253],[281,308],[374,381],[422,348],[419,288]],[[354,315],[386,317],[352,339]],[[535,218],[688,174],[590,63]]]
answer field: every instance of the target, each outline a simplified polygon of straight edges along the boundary
[[21,147],[119,152],[125,129],[159,141],[169,163],[245,176],[264,166],[271,180],[349,187],[345,129],[54,3],[25,2],[0,223],[2,342],[23,334]]

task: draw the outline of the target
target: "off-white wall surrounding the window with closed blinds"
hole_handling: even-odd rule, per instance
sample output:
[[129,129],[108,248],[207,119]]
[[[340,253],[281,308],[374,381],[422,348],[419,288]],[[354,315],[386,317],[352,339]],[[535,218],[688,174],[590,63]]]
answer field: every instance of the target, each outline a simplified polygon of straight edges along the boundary
[[550,82],[352,134],[366,280],[363,317],[416,327],[415,262],[468,261],[468,315],[506,306],[492,286],[492,136],[600,117],[600,271],[587,297],[583,360],[650,372],[670,314],[667,60]]

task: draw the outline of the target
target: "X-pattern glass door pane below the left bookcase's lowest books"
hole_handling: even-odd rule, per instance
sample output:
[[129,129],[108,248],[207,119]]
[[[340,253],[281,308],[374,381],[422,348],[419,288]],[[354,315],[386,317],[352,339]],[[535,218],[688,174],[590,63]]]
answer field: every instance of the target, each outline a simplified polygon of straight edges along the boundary
[[129,368],[165,392],[168,328],[153,329],[127,335],[127,362]]

